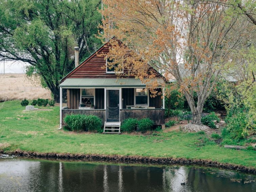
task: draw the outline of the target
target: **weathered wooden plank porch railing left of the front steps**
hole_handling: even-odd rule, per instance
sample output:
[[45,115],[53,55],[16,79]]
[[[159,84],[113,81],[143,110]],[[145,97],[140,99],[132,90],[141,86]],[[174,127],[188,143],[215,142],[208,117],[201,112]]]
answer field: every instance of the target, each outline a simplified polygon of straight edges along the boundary
[[83,115],[96,115],[102,120],[102,125],[106,120],[106,110],[105,109],[87,109],[87,110],[80,110],[80,109],[62,109],[62,125],[65,125],[64,118],[66,115],[70,114],[83,114]]

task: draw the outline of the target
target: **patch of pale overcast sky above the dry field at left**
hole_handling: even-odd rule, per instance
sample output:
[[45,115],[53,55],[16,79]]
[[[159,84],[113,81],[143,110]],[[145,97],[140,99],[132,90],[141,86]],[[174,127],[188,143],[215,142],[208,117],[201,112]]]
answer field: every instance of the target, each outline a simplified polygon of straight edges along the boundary
[[0,73],[25,73],[25,66],[28,65],[23,62],[5,62],[5,67],[3,61],[0,61]]

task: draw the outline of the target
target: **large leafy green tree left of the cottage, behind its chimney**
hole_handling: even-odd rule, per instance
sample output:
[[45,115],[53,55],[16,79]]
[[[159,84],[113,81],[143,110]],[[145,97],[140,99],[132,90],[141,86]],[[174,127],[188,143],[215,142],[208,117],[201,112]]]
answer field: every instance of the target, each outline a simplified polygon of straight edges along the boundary
[[59,80],[79,60],[100,46],[95,37],[100,0],[0,0],[0,60],[30,64],[27,74],[40,77],[56,102]]

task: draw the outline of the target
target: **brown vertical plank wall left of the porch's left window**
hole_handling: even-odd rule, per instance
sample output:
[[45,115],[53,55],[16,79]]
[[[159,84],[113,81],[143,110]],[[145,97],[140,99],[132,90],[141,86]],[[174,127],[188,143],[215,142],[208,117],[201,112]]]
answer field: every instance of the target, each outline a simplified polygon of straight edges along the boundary
[[67,107],[78,109],[80,101],[80,89],[67,89]]

